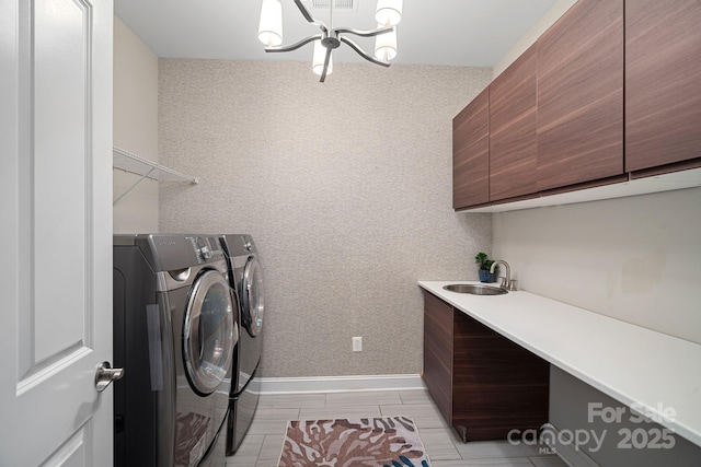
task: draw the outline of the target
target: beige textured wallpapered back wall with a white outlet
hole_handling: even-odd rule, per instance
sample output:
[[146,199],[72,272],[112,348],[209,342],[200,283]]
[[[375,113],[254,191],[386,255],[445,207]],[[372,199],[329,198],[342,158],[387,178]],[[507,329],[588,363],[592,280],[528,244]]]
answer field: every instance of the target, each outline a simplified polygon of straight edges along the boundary
[[[161,231],[248,232],[265,376],[416,374],[420,279],[475,279],[490,214],[451,209],[451,120],[492,70],[161,59]],[[364,338],[352,353],[350,338]]]

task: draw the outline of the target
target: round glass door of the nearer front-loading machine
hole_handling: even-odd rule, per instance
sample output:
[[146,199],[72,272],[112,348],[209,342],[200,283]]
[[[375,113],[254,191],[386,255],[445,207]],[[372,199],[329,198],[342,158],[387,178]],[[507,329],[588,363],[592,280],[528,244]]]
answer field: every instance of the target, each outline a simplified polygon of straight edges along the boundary
[[197,278],[187,299],[183,360],[187,381],[200,396],[221,384],[239,338],[230,290],[221,273],[208,270]]

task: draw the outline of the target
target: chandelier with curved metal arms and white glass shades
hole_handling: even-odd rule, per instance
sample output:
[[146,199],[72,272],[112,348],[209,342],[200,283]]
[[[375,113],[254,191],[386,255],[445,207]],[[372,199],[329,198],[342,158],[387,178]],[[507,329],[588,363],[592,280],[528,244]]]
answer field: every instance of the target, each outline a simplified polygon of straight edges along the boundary
[[[319,26],[321,33],[306,37],[290,46],[283,46],[283,5],[279,0],[263,0],[263,4],[261,5],[261,22],[258,25],[258,39],[265,45],[265,51],[292,51],[313,42],[312,70],[321,77],[319,81],[322,83],[333,71],[331,52],[333,49],[338,48],[341,43],[348,45],[366,60],[382,67],[389,67],[390,60],[397,56],[397,24],[402,20],[402,0],[377,0],[375,13],[377,27],[368,31],[334,27],[333,5],[334,2],[337,1],[338,0],[327,0],[329,25],[326,25],[311,15],[307,7],[302,4],[302,0],[295,0],[304,20]],[[358,37],[375,37],[374,56],[370,56],[348,38],[347,35],[349,34]]]

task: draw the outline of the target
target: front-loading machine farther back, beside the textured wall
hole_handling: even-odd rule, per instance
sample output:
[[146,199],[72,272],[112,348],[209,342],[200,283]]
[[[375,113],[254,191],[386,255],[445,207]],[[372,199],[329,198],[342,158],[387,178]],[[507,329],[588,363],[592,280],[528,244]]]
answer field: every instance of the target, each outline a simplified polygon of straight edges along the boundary
[[227,455],[233,454],[245,436],[258,404],[257,369],[263,350],[263,271],[253,238],[246,234],[221,236],[229,260],[230,284],[239,296],[239,346],[233,355],[233,378],[227,429]]

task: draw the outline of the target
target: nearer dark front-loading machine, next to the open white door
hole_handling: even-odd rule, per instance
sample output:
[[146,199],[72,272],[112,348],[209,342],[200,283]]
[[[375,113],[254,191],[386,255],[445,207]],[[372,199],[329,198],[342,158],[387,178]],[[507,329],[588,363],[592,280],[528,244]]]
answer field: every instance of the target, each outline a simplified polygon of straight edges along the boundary
[[114,364],[125,369],[114,385],[114,465],[206,465],[226,430],[239,341],[220,241],[115,235],[113,259]]

